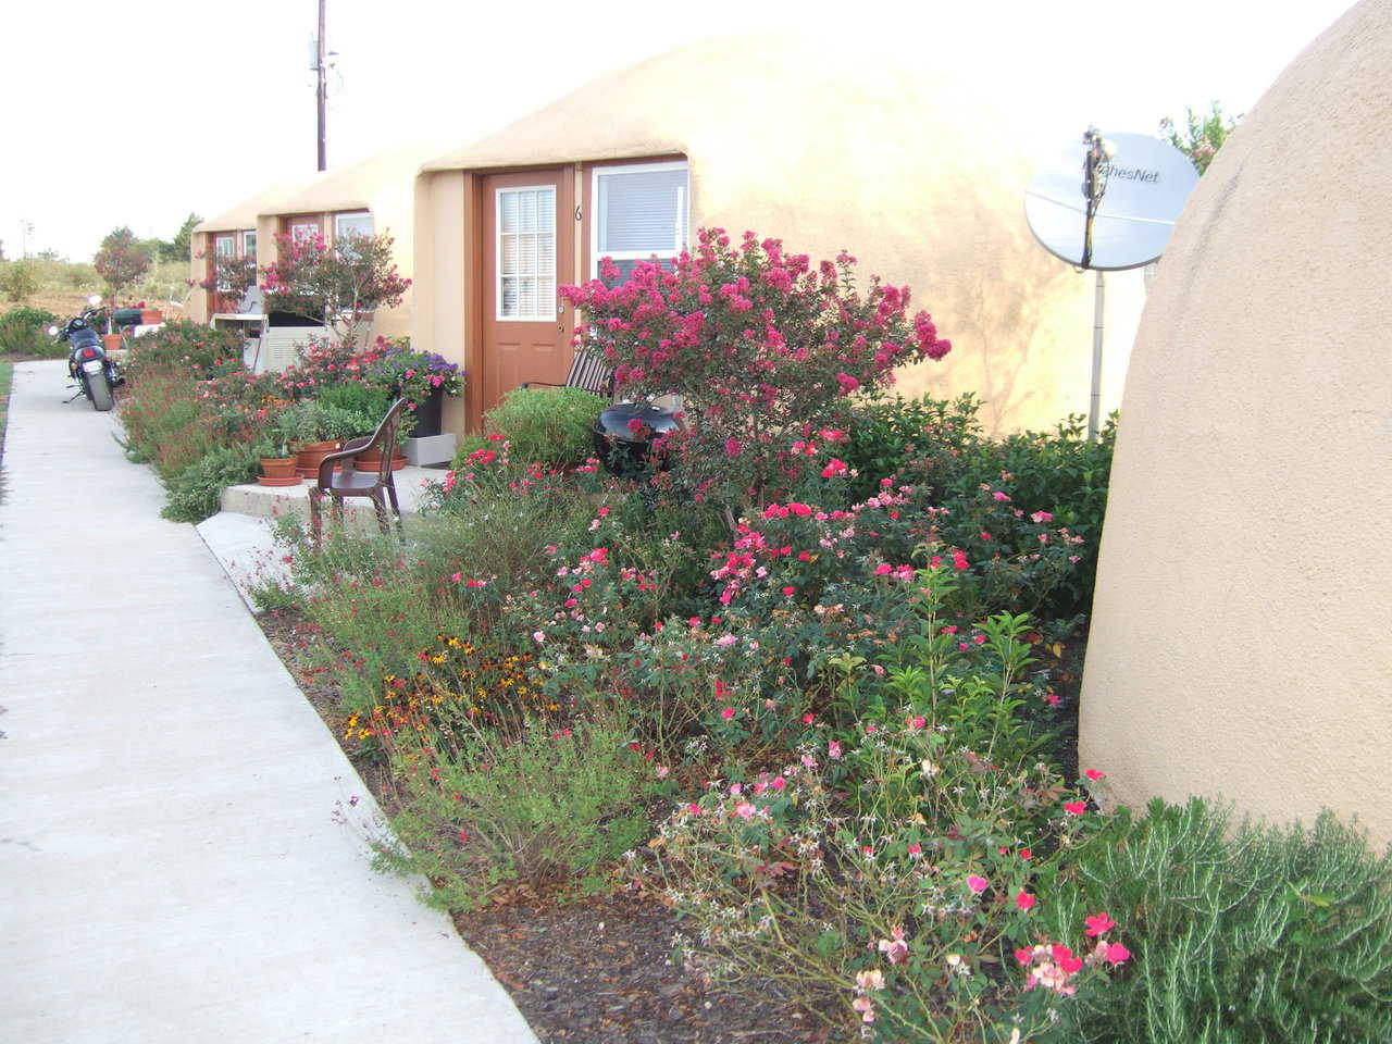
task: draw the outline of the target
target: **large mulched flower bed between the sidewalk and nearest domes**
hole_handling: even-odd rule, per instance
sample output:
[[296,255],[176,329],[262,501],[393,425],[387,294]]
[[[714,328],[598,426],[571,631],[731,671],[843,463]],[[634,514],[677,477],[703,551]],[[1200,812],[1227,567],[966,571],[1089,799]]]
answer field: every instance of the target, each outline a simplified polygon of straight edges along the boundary
[[[951,345],[851,264],[706,230],[564,291],[625,391],[696,418],[636,483],[529,388],[408,535],[283,519],[252,597],[302,614],[263,625],[379,795],[379,866],[548,1041],[1392,1038],[1392,857],[1332,817],[1111,810],[1116,766],[1077,763],[1115,427],[877,394]],[[361,363],[319,362],[295,397],[352,405]],[[122,416],[171,472],[224,433],[160,380]],[[200,388],[238,432],[278,398]]]

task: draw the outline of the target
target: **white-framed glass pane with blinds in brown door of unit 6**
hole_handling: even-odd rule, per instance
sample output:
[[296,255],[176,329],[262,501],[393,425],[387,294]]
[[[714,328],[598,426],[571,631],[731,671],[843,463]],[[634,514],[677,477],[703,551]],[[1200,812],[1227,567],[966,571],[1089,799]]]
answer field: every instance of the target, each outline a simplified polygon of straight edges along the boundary
[[555,319],[555,187],[497,191],[497,317]]

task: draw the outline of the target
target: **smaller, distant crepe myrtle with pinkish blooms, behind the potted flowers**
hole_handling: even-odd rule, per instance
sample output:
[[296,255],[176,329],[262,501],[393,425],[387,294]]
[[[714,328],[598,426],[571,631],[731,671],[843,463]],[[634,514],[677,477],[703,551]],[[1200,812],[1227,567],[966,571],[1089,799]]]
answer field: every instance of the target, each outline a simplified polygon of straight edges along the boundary
[[387,234],[347,235],[324,242],[312,235],[277,235],[278,260],[262,269],[266,308],[323,323],[354,351],[379,308],[395,308],[411,287],[391,260]]

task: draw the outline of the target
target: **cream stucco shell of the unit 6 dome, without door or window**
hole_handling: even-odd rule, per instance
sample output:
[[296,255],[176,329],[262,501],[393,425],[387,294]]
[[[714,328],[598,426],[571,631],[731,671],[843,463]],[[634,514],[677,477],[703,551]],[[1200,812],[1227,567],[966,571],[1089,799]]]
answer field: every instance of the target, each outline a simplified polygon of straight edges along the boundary
[[[974,391],[995,430],[1050,427],[1087,409],[1093,281],[1034,244],[1023,205],[1033,157],[1016,145],[1029,134],[986,89],[878,53],[750,35],[607,75],[426,170],[685,155],[695,226],[753,228],[814,259],[849,249],[864,278],[913,288],[954,351],[903,373],[903,393]],[[416,217],[438,238],[462,235],[454,214]],[[1115,408],[1140,274],[1111,277],[1109,296],[1104,402]],[[450,351],[423,323],[418,337]]]

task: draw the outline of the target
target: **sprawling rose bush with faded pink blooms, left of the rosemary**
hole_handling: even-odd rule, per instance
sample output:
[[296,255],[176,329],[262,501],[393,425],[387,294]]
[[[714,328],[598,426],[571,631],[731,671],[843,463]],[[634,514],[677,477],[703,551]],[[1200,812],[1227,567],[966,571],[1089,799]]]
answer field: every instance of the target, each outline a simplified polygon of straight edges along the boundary
[[[679,806],[650,855],[685,917],[678,947],[703,970],[736,991],[771,974],[793,1002],[885,1044],[1036,1040],[1077,999],[1065,992],[1115,973],[1082,959],[1083,916],[1044,935],[1030,913],[1050,902],[1038,867],[1096,817],[1038,760],[1020,717],[1027,621],[1001,614],[963,651],[941,628],[952,583],[920,572],[919,633],[883,665],[837,657],[832,713],[803,718],[802,742],[766,771],[731,771]],[[732,688],[711,735],[760,715],[738,678]],[[1058,988],[1029,987],[1019,955],[1036,944],[1076,952]]]

